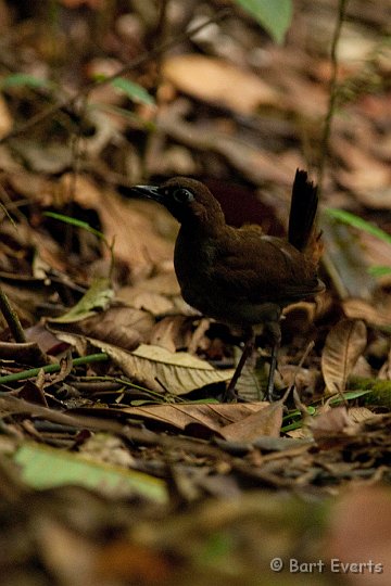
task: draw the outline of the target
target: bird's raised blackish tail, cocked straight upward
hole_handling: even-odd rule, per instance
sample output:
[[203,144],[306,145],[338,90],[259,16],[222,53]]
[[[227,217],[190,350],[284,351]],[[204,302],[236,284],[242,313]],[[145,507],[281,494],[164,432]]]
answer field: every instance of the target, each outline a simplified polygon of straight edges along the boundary
[[315,265],[323,252],[321,233],[315,224],[317,207],[317,186],[308,180],[306,171],[298,169],[292,187],[288,240]]

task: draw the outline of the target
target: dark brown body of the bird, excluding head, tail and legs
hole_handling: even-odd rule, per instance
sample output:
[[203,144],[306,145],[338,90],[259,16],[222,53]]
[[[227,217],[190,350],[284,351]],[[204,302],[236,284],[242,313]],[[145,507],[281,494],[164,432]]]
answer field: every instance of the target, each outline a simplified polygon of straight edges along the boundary
[[281,308],[323,290],[310,259],[256,226],[225,226],[218,238],[198,238],[181,227],[175,269],[187,303],[232,323],[258,323],[261,306]]

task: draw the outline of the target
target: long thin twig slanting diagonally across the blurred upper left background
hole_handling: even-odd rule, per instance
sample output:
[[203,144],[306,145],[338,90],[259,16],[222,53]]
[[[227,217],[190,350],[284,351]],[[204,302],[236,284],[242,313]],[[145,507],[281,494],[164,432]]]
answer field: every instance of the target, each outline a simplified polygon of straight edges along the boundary
[[70,107],[73,107],[76,100],[78,100],[79,98],[88,97],[88,94],[93,89],[96,89],[97,87],[105,86],[105,85],[110,84],[111,81],[113,81],[114,79],[116,79],[117,77],[121,77],[121,76],[127,74],[128,72],[135,69],[139,65],[142,65],[143,63],[147,63],[148,61],[151,61],[152,59],[161,55],[162,53],[165,53],[166,51],[168,51],[173,47],[175,47],[175,46],[179,44],[180,42],[191,38],[193,35],[199,33],[205,26],[209,26],[212,23],[217,23],[217,22],[223,21],[223,18],[225,18],[226,16],[228,16],[228,14],[230,14],[230,12],[231,11],[229,9],[223,9],[223,10],[218,11],[217,14],[215,16],[213,16],[212,18],[210,18],[209,21],[206,21],[206,22],[204,22],[202,24],[199,24],[198,26],[194,26],[190,30],[181,33],[175,39],[171,39],[168,41],[165,41],[165,42],[154,47],[150,51],[147,51],[147,52],[142,53],[141,55],[133,59],[129,63],[124,65],[124,67],[118,69],[115,74],[113,74],[113,75],[111,75],[109,77],[105,77],[103,80],[99,79],[99,80],[90,81],[84,88],[81,88],[77,93],[75,93],[74,95],[70,95],[68,98],[65,98],[61,102],[58,102],[56,104],[53,104],[52,106],[48,107],[43,112],[40,112],[40,113],[36,114],[35,116],[33,116],[28,122],[21,125],[18,128],[14,128],[13,130],[11,130],[11,132],[9,132],[8,135],[5,135],[4,137],[2,137],[0,139],[0,144],[2,144],[3,142],[7,142],[8,140],[10,140],[10,139],[23,133],[23,132],[26,132],[27,130],[30,130],[30,128],[33,128],[37,124],[46,120],[47,118],[53,116],[59,111],[67,110]]

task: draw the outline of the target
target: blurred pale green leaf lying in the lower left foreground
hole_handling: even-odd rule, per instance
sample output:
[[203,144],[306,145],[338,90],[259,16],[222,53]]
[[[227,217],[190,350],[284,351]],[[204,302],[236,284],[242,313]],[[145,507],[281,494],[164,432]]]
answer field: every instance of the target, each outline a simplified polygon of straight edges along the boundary
[[167,501],[163,481],[135,470],[93,462],[77,454],[38,444],[23,444],[14,460],[22,468],[22,480],[36,489],[77,485],[104,495],[137,494],[156,502]]

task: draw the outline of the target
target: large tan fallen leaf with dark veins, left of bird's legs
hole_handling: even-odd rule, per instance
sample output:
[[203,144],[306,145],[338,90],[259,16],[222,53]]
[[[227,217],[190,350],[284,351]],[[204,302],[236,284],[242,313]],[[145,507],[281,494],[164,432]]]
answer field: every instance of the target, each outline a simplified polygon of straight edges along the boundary
[[91,342],[108,353],[125,374],[156,393],[166,388],[173,395],[186,395],[206,384],[227,382],[234,375],[232,369],[216,370],[186,352],[141,344],[130,353],[98,340]]

